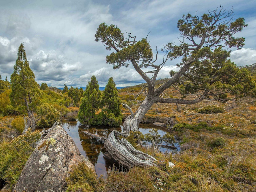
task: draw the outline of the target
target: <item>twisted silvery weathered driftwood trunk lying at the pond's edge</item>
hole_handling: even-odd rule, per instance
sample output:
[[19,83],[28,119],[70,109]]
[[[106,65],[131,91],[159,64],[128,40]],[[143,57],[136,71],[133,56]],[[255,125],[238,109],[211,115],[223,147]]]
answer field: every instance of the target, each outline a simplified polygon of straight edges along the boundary
[[126,167],[156,166],[154,161],[157,160],[154,157],[136,150],[126,139],[120,139],[120,136],[127,137],[128,134],[112,131],[104,143],[105,149],[115,161]]

